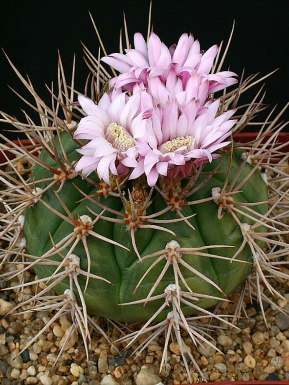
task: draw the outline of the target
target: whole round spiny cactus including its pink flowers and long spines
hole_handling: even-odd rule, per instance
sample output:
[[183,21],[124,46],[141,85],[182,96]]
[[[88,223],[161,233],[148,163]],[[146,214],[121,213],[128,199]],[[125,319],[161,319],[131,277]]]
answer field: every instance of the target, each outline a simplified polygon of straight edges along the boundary
[[[200,319],[211,319],[210,330],[235,327],[246,295],[258,301],[266,325],[263,301],[280,309],[269,296],[283,298],[271,278],[289,278],[283,268],[289,176],[282,152],[288,143],[278,136],[287,106],[276,117],[271,111],[256,138],[242,143],[239,132],[266,106],[262,88],[249,105],[237,107],[240,95],[270,74],[242,77],[228,91],[237,83],[233,72],[220,72],[228,46],[217,65],[217,46],[203,54],[184,34],[169,50],[150,28],[148,46],[137,33],[135,49],[102,58],[121,72],[112,68],[112,78],[85,47],[91,79],[78,102],[74,64],[68,87],[59,56],[49,107],[8,58],[35,99],[39,122],[26,112],[24,122],[1,112],[29,144],[0,134],[7,142],[0,144],[6,168],[0,170],[6,244],[0,277],[20,293],[14,311],[27,305],[24,312],[54,311],[25,348],[64,312],[88,359],[89,325],[111,342],[94,316],[141,321],[118,342],[129,347],[143,337],[134,350],[139,354],[163,333],[161,371],[174,336],[191,381],[188,356],[203,374],[183,348],[181,329],[195,344],[218,350]],[[27,281],[32,269],[37,277]],[[42,290],[22,299],[34,284]],[[236,290],[230,320],[216,310]]]

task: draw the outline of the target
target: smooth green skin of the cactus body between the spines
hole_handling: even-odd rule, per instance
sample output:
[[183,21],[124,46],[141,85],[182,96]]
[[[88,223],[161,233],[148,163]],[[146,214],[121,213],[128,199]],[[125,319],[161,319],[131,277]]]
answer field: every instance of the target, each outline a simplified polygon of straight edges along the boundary
[[[75,151],[78,147],[77,144],[71,139],[67,132],[62,133],[62,141],[68,158],[70,161],[75,161],[79,158],[79,154]],[[58,140],[56,145],[59,152],[61,153],[61,147]],[[237,173],[238,169],[243,164],[240,156],[242,150],[234,150],[232,164],[229,172],[229,182],[231,182]],[[40,154],[40,158],[48,165],[57,167],[55,161],[50,158],[46,152]],[[204,184],[197,192],[193,193],[187,198],[188,201],[199,200],[211,196],[212,188],[223,187],[223,182],[226,178],[227,170],[229,168],[229,155],[222,154],[222,158],[215,159],[211,164],[205,166],[204,171],[213,171],[219,162],[222,162],[219,172],[215,173],[211,179]],[[252,166],[245,164],[245,168],[241,172],[235,186],[251,171]],[[220,172],[222,171],[222,172]],[[52,173],[44,168],[43,166],[36,165],[32,172],[31,180],[41,180],[49,178]],[[91,176],[91,175],[90,175]],[[200,175],[198,183],[207,176],[206,173]],[[93,176],[96,180],[96,175]],[[49,182],[43,182],[37,184],[42,189]],[[92,214],[89,213],[87,206],[95,213],[100,213],[102,209],[90,202],[85,200],[78,202],[84,196],[77,191],[73,186],[77,185],[81,191],[90,195],[96,192],[96,188],[89,183],[87,180],[83,180],[80,176],[75,177],[73,180],[67,181],[60,192],[60,197],[63,199],[65,204],[71,213],[77,218],[78,215],[87,214],[90,217]],[[67,215],[57,199],[53,189],[57,190],[59,185],[54,186],[45,192],[42,199],[46,201],[51,207]],[[129,186],[128,186],[129,187]],[[235,201],[240,202],[261,202],[267,201],[267,185],[263,181],[260,171],[255,171],[252,176],[248,179],[245,185],[241,188],[242,192],[234,195]],[[123,210],[122,203],[119,198],[109,196],[104,198],[102,196],[95,197],[94,199],[101,202],[103,205],[110,207],[111,209],[121,211]],[[154,203],[147,210],[147,214],[155,213],[166,207],[165,202],[159,196],[156,198]],[[240,206],[239,206],[240,207]],[[265,214],[267,212],[267,204],[261,204],[251,206],[253,210],[258,213]],[[217,217],[218,206],[214,201],[208,201],[201,204],[192,206],[185,206],[182,209],[182,214],[189,216],[196,214],[194,217],[189,219],[191,224],[195,227],[195,231],[192,230],[185,222],[175,222],[165,224],[167,229],[172,230],[177,237],[170,235],[166,232],[152,229],[138,229],[135,233],[136,244],[138,251],[142,257],[155,253],[165,248],[166,244],[175,239],[178,241],[181,247],[203,247],[208,245],[229,245],[233,246],[230,248],[213,248],[202,250],[204,253],[220,255],[223,257],[233,257],[236,251],[242,244],[243,235],[241,229],[236,221],[233,219],[231,214],[225,213],[223,218],[220,220]],[[113,217],[114,214],[106,212],[105,215]],[[49,208],[45,207],[40,201],[27,208],[24,212],[24,236],[26,238],[26,253],[34,256],[42,256],[52,247],[52,243],[49,237],[49,233],[52,235],[55,244],[61,241],[65,236],[73,231],[73,226],[67,223],[65,220],[60,218],[57,214],[54,214]],[[115,217],[115,216],[114,216]],[[238,217],[241,223],[252,224],[252,222],[243,215]],[[173,211],[166,212],[158,217],[158,219],[173,219],[178,218],[177,214]],[[110,280],[113,285],[110,285],[99,279],[90,278],[86,292],[84,292],[86,277],[78,275],[78,281],[82,288],[82,293],[87,304],[87,311],[90,315],[98,315],[106,317],[116,321],[147,321],[159,307],[163,304],[164,299],[158,299],[150,301],[143,306],[143,304],[118,306],[120,303],[126,303],[144,299],[147,297],[150,289],[159,277],[164,265],[165,258],[163,258],[146,276],[138,287],[135,294],[133,291],[138,281],[142,278],[147,269],[156,260],[157,257],[147,258],[143,263],[138,263],[138,258],[133,251],[133,245],[131,241],[130,233],[128,232],[126,225],[116,224],[114,222],[108,222],[105,220],[98,220],[94,225],[93,230],[101,235],[104,235],[116,242],[127,246],[131,251],[126,251],[118,246],[114,246],[111,243],[99,240],[92,235],[87,237],[89,254],[91,258],[91,273],[103,278]],[[264,227],[260,226],[256,231],[264,231]],[[261,247],[264,247],[262,243],[259,243]],[[62,253],[67,254],[69,247]],[[80,267],[82,270],[87,271],[88,260],[86,252],[82,242],[79,242],[76,249],[73,251],[80,257]],[[61,257],[55,255],[50,257],[51,259],[61,261]],[[211,257],[183,255],[182,258],[193,268],[198,270],[200,273],[205,275],[207,278],[213,280],[219,287],[222,288],[226,295],[229,295],[235,291],[242,283],[245,278],[252,272],[252,264],[240,263],[233,261],[216,259]],[[252,254],[248,245],[245,246],[243,251],[239,254],[237,259],[252,262]],[[35,272],[39,278],[50,277],[55,271],[55,266],[47,265],[35,265]],[[185,278],[187,284],[193,291],[193,293],[200,293],[210,296],[217,296],[224,298],[222,293],[210,283],[197,275],[191,273],[189,270],[180,266],[180,270]],[[153,295],[162,294],[165,288],[175,282],[173,267],[170,266],[164,278],[157,286]],[[50,283],[50,282],[49,282]],[[187,291],[180,282],[181,289]],[[69,288],[68,278],[65,278],[61,283],[54,287],[54,291],[57,294],[63,294],[65,289]],[[79,300],[79,296],[76,288],[75,295]],[[202,308],[209,308],[218,302],[216,299],[200,299],[195,302]],[[156,321],[163,320],[166,314],[171,308],[166,308],[162,313],[158,315]],[[183,313],[188,316],[194,313],[192,308],[188,306],[182,307]]]

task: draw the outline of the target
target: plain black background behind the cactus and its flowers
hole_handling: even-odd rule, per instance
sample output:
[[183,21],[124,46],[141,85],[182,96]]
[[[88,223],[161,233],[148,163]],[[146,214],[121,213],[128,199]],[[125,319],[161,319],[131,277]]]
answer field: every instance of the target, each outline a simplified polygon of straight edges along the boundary
[[[122,11],[127,16],[129,35],[146,34],[149,1],[118,0],[12,0],[0,1],[0,46],[23,75],[29,74],[35,89],[49,101],[44,84],[56,81],[57,49],[69,72],[76,53],[76,88],[84,90],[88,68],[82,59],[80,40],[97,56],[98,41],[89,19],[89,10],[97,24],[108,53],[118,51]],[[280,68],[266,81],[267,103],[283,107],[289,100],[289,5],[287,1],[187,0],[153,1],[154,31],[171,45],[183,32],[192,32],[208,49],[227,41],[233,20],[234,37],[224,69],[241,75],[260,71],[262,75]],[[0,53],[0,110],[22,117],[28,112],[12,86],[27,96],[24,86]],[[255,92],[257,92],[255,88]],[[249,101],[247,96],[245,102]],[[33,114],[32,114],[33,116]],[[284,115],[289,119],[289,112]],[[3,125],[0,126],[2,129]],[[253,130],[251,128],[251,130]],[[15,134],[8,134],[15,136]]]

